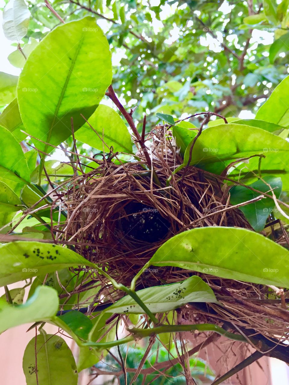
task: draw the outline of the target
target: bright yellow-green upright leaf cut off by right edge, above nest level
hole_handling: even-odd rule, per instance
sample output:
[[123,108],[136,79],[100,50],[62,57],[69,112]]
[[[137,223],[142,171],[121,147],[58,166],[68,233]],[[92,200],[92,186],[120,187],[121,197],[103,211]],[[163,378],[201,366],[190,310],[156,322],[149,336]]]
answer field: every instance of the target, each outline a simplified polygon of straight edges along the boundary
[[[261,105],[256,114],[256,119],[289,126],[289,76],[282,80],[274,89],[269,99]],[[276,106],[278,108],[276,108]]]

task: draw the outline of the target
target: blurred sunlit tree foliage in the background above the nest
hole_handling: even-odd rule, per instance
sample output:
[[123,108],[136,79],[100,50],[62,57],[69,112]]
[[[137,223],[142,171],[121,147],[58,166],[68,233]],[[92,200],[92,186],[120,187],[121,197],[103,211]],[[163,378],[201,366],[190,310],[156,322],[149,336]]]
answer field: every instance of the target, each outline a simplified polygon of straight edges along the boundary
[[[32,17],[22,40],[34,45],[60,22],[43,2],[27,3]],[[96,16],[113,54],[114,90],[123,104],[137,106],[134,119],[148,115],[149,128],[158,122],[156,112],[255,114],[287,74],[286,0],[56,0],[52,5],[65,21]],[[29,45],[24,50],[29,52]],[[23,58],[16,53],[9,60],[21,67]]]

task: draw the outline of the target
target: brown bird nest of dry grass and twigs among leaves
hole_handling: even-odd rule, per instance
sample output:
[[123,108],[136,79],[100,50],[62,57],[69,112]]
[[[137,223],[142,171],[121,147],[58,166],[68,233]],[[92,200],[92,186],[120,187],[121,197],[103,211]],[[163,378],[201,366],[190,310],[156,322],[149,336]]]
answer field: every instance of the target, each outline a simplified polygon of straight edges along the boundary
[[[66,191],[59,195],[67,208],[67,222],[55,229],[61,239],[73,243],[77,253],[126,286],[161,244],[175,234],[202,226],[236,226],[254,231],[242,212],[230,206],[229,189],[220,176],[195,167],[173,175],[183,159],[165,127],[156,127],[148,139],[154,173],[143,168],[147,163],[140,150],[138,159],[128,162],[111,154],[108,159],[97,160],[95,169],[69,181]],[[86,274],[87,281],[93,277],[101,282],[98,301],[108,294],[108,289],[114,301],[123,296],[97,273]],[[174,283],[193,274],[210,285],[219,302],[183,306],[180,313],[184,322],[220,326],[227,322],[238,330],[252,328],[269,339],[288,339],[289,317],[281,309],[280,298],[267,286],[158,267],[157,274],[149,269],[139,278],[137,289]],[[86,280],[83,282],[85,287]],[[91,301],[97,302],[96,297]]]

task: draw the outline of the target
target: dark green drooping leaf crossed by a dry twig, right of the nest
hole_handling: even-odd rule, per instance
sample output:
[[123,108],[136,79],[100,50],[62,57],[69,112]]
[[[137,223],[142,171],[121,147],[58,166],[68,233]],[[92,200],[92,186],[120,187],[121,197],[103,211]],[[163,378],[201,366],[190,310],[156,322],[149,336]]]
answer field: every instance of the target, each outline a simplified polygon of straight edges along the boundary
[[[272,189],[274,189],[274,194],[276,195],[277,199],[279,199],[282,190],[281,178],[265,176],[264,181],[270,184]],[[268,192],[270,189],[261,179],[252,184],[249,184],[248,186],[261,192]],[[272,196],[272,192],[268,192],[268,194]],[[258,192],[252,191],[247,187],[234,186],[230,189],[230,203],[239,204],[256,198],[259,195],[260,194]],[[239,209],[244,213],[248,222],[255,231],[262,231],[266,224],[267,218],[269,214],[274,210],[274,207],[275,203],[273,199],[264,198],[260,201],[242,206]]]

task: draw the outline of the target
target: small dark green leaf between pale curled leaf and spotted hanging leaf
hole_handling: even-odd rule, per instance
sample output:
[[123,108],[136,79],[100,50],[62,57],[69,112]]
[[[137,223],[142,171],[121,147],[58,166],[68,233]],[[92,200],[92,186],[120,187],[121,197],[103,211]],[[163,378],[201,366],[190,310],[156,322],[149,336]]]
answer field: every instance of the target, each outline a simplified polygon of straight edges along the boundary
[[72,310],[58,318],[65,322],[79,338],[87,340],[88,334],[92,329],[92,322],[86,315],[82,314],[80,311]]

